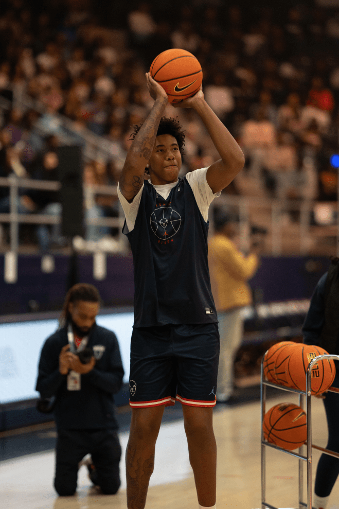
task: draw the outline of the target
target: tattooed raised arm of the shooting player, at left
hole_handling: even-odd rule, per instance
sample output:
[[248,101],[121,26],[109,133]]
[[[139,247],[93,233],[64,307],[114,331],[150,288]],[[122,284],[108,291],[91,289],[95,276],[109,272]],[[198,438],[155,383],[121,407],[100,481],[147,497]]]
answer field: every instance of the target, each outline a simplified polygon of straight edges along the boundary
[[160,118],[168,103],[165,90],[149,73],[146,80],[154,104],[132,142],[119,179],[120,191],[129,202],[133,201],[144,183],[145,168],[152,154]]

